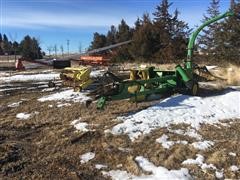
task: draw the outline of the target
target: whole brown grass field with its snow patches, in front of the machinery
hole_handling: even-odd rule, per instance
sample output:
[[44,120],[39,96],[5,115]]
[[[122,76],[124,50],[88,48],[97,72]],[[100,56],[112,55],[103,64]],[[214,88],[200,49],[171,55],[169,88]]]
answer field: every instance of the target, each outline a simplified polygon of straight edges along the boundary
[[48,87],[59,71],[28,67],[0,72],[1,179],[240,178],[238,77],[97,110],[87,92]]

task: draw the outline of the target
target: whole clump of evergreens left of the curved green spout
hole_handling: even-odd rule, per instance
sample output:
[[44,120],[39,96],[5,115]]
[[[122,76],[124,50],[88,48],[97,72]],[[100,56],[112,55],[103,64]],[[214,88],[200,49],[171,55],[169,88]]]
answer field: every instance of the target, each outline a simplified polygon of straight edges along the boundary
[[107,36],[95,33],[90,49],[133,40],[131,45],[117,48],[114,59],[156,59],[157,62],[167,63],[183,58],[190,30],[184,21],[179,20],[178,10],[173,14],[169,12],[171,5],[168,0],[162,0],[153,13],[154,21],[146,13],[142,19],[136,20],[135,29],[122,19],[117,30],[112,26]]

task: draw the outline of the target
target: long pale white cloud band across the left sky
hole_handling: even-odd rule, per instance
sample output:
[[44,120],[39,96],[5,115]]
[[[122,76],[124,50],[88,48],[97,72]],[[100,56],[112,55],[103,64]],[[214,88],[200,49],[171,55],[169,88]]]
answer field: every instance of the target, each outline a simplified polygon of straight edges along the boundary
[[[122,17],[105,14],[81,14],[64,12],[9,12],[3,20],[3,26],[20,28],[47,28],[47,27],[106,27],[117,25]],[[126,19],[135,19],[135,17],[124,17]],[[131,21],[131,20],[130,20]],[[133,21],[132,21],[133,22]],[[133,24],[129,22],[130,25]]]

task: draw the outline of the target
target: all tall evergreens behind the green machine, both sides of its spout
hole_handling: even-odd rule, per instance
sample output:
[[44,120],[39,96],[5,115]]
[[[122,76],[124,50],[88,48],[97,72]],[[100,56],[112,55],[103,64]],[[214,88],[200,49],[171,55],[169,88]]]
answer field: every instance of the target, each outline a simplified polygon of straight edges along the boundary
[[[220,0],[211,0],[202,22],[220,14]],[[156,63],[171,63],[182,60],[192,29],[179,19],[179,10],[170,12],[173,3],[162,0],[156,7],[152,18],[144,13],[130,27],[124,19],[115,27],[111,26],[107,34],[94,33],[89,49],[132,40],[131,44],[115,50],[116,61],[135,60]],[[240,12],[240,1],[231,0],[231,7]],[[214,23],[201,33],[195,53],[209,61],[239,62],[240,59],[240,19],[230,17]]]

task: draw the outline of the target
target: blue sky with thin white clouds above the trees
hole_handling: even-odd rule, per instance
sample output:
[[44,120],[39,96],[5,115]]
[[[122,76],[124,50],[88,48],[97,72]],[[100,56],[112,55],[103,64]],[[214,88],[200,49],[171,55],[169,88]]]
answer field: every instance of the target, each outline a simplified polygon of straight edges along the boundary
[[[20,41],[26,34],[37,37],[41,47],[63,45],[77,52],[87,48],[94,32],[106,33],[121,19],[133,26],[144,12],[152,14],[161,0],[0,0],[1,33]],[[178,8],[180,19],[190,27],[200,24],[210,0],[169,0],[171,10]],[[230,0],[220,0],[221,11]]]

